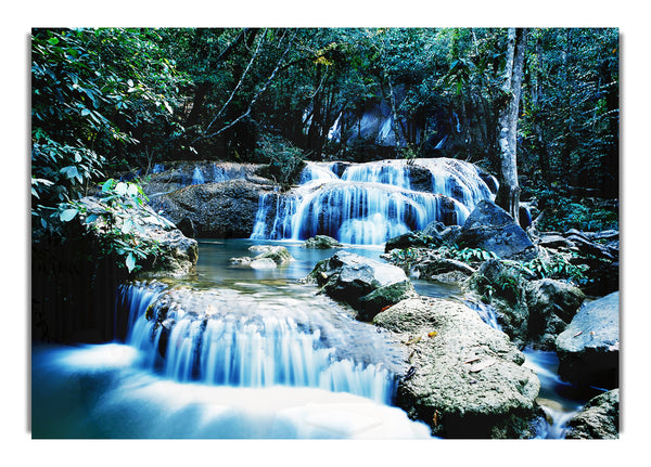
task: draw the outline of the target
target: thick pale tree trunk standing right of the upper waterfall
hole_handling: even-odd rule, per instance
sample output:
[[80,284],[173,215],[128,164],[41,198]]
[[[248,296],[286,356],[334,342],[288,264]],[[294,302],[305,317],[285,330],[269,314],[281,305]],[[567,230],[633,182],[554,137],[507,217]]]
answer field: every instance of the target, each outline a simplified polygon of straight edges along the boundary
[[500,151],[501,180],[496,202],[511,215],[515,222],[520,220],[516,143],[525,44],[526,29],[509,28],[507,65],[502,83],[503,102],[499,108],[499,133],[497,137]]

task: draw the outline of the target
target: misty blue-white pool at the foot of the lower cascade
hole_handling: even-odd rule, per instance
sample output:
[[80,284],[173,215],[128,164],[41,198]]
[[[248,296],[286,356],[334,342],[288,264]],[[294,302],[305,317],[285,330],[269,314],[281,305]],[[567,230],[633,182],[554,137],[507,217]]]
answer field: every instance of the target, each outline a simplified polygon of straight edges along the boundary
[[411,439],[424,424],[370,399],[318,388],[179,382],[106,343],[34,349],[34,438]]

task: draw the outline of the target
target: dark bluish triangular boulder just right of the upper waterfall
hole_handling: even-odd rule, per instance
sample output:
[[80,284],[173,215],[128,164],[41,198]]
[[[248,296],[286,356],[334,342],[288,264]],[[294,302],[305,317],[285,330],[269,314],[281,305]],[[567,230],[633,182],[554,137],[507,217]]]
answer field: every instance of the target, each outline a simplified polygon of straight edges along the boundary
[[533,259],[537,252],[513,218],[495,203],[482,200],[470,213],[457,238],[460,247],[484,248],[503,259]]

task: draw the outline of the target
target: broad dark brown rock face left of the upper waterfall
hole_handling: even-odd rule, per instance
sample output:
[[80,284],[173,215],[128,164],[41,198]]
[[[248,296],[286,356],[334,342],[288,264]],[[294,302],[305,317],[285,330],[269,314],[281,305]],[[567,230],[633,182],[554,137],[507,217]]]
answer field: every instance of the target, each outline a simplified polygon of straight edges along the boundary
[[186,186],[150,199],[173,222],[189,219],[197,237],[247,238],[253,232],[259,195],[266,189],[238,179]]

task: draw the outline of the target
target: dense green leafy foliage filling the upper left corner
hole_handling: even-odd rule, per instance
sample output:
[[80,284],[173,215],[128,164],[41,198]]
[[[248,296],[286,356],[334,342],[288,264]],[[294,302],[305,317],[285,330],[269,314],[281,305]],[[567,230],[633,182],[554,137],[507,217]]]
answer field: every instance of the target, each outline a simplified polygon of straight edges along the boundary
[[[34,29],[33,220],[169,140],[181,81],[153,29]],[[125,152],[130,146],[129,152]],[[124,166],[123,166],[124,167]]]

